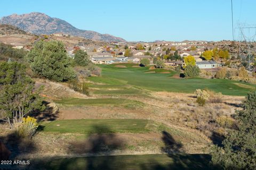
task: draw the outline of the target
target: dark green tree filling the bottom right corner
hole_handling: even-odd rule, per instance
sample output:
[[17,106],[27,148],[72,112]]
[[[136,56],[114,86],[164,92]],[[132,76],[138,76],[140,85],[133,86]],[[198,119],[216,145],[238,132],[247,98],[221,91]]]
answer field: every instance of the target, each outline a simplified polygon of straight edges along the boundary
[[223,147],[215,146],[212,162],[225,169],[256,169],[256,91],[249,92],[237,111],[237,130],[230,130]]

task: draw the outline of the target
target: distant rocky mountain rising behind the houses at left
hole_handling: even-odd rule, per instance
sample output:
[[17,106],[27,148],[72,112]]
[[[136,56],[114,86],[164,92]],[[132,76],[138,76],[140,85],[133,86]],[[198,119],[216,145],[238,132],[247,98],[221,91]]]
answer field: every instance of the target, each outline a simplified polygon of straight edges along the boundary
[[83,37],[100,41],[125,41],[123,38],[115,37],[109,34],[101,34],[95,31],[87,31],[75,28],[68,22],[51,18],[44,13],[32,12],[29,14],[12,14],[4,16],[0,20],[0,24],[10,24],[36,35],[52,34],[57,32],[68,33],[72,36]]

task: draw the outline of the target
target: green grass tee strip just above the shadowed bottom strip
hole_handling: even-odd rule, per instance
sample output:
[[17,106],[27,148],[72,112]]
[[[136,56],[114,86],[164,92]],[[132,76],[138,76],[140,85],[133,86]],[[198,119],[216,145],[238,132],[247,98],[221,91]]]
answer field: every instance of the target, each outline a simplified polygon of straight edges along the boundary
[[[44,132],[59,133],[115,133],[149,132],[153,121],[135,119],[81,119],[81,120],[60,120],[49,123],[42,123]],[[58,125],[58,126],[57,126]]]

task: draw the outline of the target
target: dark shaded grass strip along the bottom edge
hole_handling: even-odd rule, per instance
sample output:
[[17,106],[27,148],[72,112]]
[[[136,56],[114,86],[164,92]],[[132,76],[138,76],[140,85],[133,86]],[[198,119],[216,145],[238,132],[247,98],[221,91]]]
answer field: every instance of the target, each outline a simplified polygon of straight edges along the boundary
[[211,157],[203,154],[122,155],[51,160],[46,169],[217,169],[210,166]]

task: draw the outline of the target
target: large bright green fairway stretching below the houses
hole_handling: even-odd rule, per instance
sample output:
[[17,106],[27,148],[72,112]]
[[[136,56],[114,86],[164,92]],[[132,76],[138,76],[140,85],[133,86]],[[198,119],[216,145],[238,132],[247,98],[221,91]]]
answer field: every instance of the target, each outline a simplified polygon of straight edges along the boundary
[[149,71],[148,67],[129,67],[129,65],[125,68],[115,67],[115,65],[100,65],[100,67],[102,69],[102,77],[89,78],[90,81],[105,84],[95,85],[97,88],[122,88],[130,85],[153,91],[185,93],[193,93],[196,89],[209,88],[216,92],[222,92],[224,95],[245,96],[250,89],[243,86],[237,86],[236,83],[246,84],[252,88],[256,87],[255,84],[226,79],[175,79],[172,78],[171,75],[174,75],[176,72],[169,74],[145,73]]

